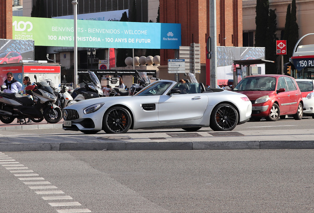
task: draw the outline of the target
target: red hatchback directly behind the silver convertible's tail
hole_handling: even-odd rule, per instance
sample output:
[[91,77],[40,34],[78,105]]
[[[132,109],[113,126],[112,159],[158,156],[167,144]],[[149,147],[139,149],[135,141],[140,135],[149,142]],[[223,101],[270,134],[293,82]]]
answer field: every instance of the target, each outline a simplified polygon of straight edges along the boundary
[[301,91],[294,78],[287,75],[252,75],[243,78],[233,90],[246,95],[252,102],[252,119],[265,117],[276,121],[286,115],[303,117]]

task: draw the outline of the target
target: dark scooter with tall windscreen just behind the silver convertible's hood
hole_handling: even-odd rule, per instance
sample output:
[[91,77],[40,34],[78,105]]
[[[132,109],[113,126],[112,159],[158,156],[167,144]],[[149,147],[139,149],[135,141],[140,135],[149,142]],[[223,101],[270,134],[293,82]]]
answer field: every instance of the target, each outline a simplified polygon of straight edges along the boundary
[[89,77],[92,82],[86,82],[80,84],[79,88],[76,88],[72,93],[72,98],[74,102],[91,99],[91,98],[98,98],[103,97],[104,93],[101,90],[101,83],[98,77],[92,71],[87,71]]

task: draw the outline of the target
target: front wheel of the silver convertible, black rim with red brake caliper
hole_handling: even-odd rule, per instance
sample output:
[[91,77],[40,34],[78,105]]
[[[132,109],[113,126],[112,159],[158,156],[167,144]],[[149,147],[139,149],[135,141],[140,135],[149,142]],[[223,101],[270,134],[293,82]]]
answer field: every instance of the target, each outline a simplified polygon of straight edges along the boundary
[[126,133],[132,124],[130,112],[120,106],[108,109],[103,118],[103,129],[106,133]]

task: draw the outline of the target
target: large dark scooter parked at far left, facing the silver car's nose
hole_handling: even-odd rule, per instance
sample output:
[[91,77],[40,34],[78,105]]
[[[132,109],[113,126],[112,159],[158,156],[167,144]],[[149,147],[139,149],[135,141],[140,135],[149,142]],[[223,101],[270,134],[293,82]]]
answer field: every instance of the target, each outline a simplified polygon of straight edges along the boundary
[[[34,77],[37,81],[36,75]],[[57,97],[46,81],[28,85],[25,91],[26,94],[32,95],[34,100],[18,93],[0,92],[0,121],[2,123],[12,123],[15,118],[30,118],[36,123],[43,119],[48,123],[57,123],[62,119],[61,108],[54,105]]]

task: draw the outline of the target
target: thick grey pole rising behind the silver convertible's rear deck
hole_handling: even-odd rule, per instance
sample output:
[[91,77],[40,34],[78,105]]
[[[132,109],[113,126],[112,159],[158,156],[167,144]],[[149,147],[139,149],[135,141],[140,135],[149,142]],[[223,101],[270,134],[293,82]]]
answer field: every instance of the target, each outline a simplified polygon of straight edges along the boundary
[[209,36],[211,59],[210,59],[210,87],[217,88],[217,33],[216,33],[216,0],[209,0]]

